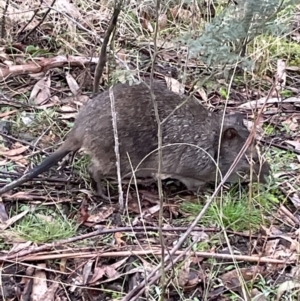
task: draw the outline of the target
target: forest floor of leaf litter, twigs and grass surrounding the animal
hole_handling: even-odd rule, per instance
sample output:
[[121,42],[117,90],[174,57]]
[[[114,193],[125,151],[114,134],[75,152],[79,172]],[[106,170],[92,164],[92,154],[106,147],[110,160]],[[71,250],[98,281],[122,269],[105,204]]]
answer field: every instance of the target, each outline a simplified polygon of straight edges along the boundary
[[[7,3],[1,2],[6,18],[0,47],[0,187],[64,141],[91,95],[113,10],[109,1]],[[127,206],[121,214],[116,200],[95,196],[89,158],[82,153],[67,158],[0,197],[2,300],[159,300],[162,287],[170,301],[299,300],[300,7],[293,7],[287,34],[257,36],[249,44],[245,57],[255,68],[244,72],[208,67],[187,55],[176,39],[191,32],[197,41],[200,25],[224,7],[200,7],[195,14],[195,7],[181,4],[164,6],[159,14],[153,70],[174,92],[193,91],[213,111],[226,105],[228,113],[242,113],[250,129],[276,73],[283,72],[256,134],[272,178],[265,185],[224,185],[171,257],[183,255],[165,269],[164,285],[146,285],[138,297],[134,289],[161,262],[156,183],[138,190],[125,183]],[[110,44],[103,89],[151,73],[155,11],[146,1],[127,5]],[[118,195],[116,182],[103,185]],[[196,195],[170,179],[163,192],[167,254],[211,199],[214,186]]]

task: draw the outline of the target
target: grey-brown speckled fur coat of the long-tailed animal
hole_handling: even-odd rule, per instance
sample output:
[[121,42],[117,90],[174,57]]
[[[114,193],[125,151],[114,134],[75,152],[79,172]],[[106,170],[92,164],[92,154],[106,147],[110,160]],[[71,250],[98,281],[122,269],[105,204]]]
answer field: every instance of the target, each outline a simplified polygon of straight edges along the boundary
[[[191,98],[182,105],[184,99],[160,82],[154,83],[153,92],[160,120],[169,116],[162,124],[164,177],[178,179],[190,190],[215,181],[214,160],[217,161],[218,157],[220,135],[222,139],[219,172],[225,175],[249,135],[241,116],[226,116],[221,129],[222,116],[208,111],[197,100]],[[139,170],[136,171],[138,177],[155,177],[158,166],[157,152],[149,154],[157,149],[157,124],[148,86],[144,83],[132,86],[118,84],[113,88],[113,93],[120,143],[121,174],[123,177],[130,176],[131,166],[134,168],[139,166]],[[174,111],[176,107],[178,109]],[[80,148],[91,156],[93,177],[100,190],[100,181],[103,177],[116,177],[114,146],[111,102],[107,90],[82,107],[74,127],[56,152],[18,181],[0,189],[0,194],[32,180],[55,165],[67,153]],[[254,149],[252,153],[254,180],[258,178],[263,180],[263,176],[269,174],[269,166],[267,163],[261,165],[255,148],[251,149],[252,151]],[[250,155],[249,148],[229,181],[236,182],[240,179],[239,175],[249,174],[250,165],[247,156]]]

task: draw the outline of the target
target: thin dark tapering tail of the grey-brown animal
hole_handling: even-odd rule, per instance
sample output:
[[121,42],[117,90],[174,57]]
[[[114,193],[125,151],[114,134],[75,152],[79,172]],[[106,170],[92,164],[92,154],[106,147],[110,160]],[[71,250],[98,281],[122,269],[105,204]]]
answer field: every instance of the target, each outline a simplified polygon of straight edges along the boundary
[[14,189],[23,183],[32,180],[33,178],[37,177],[39,174],[43,173],[44,171],[47,171],[50,167],[55,165],[58,161],[63,159],[70,150],[57,150],[52,155],[50,155],[48,158],[46,158],[40,165],[34,167],[33,169],[29,170],[26,174],[24,174],[19,179],[12,181],[11,183],[5,185],[3,188],[0,189],[0,195]]

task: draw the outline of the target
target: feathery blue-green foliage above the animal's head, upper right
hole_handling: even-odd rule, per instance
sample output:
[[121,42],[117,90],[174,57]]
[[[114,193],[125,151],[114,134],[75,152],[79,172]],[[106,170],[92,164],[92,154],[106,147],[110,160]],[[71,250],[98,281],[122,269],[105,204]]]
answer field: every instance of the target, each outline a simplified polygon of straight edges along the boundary
[[[193,32],[179,38],[189,47],[190,57],[200,58],[209,66],[253,67],[245,57],[245,45],[261,34],[282,36],[290,28],[293,0],[239,0],[227,6],[207,23],[195,39]],[[284,12],[284,13],[283,13]],[[278,18],[283,15],[284,18]]]

